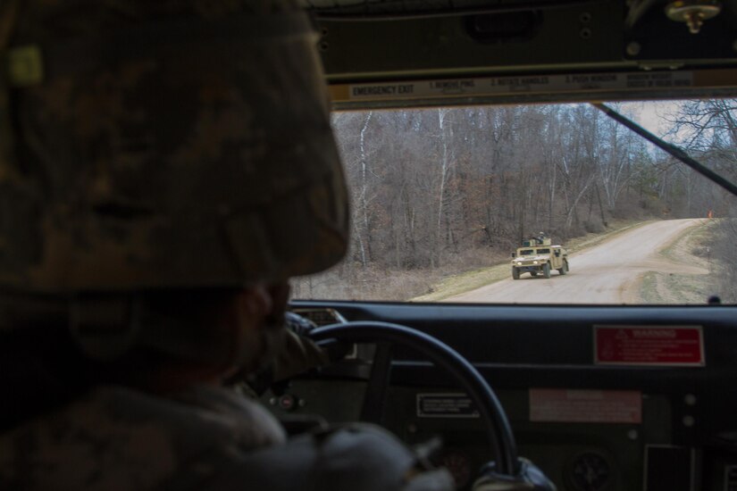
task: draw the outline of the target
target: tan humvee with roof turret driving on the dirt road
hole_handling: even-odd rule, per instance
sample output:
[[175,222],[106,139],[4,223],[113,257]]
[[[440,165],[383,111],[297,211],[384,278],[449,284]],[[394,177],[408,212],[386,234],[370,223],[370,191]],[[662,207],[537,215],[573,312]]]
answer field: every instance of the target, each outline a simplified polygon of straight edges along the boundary
[[520,279],[520,275],[529,272],[531,276],[541,273],[550,278],[550,271],[557,270],[561,275],[568,272],[568,251],[561,245],[552,245],[549,237],[540,234],[522,241],[512,253],[512,278]]

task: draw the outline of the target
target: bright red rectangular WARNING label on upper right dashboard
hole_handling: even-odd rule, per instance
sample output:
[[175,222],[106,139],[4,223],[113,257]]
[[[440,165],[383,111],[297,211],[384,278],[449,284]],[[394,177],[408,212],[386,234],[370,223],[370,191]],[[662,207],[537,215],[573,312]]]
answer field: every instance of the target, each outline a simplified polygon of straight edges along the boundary
[[600,365],[704,366],[700,326],[594,326]]

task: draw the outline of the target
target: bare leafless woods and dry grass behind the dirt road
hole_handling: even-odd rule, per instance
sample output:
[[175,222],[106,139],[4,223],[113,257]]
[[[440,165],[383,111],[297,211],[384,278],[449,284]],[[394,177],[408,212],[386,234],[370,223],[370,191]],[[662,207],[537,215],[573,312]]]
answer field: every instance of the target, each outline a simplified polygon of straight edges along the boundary
[[[635,120],[655,113],[612,105]],[[737,180],[737,100],[667,108],[666,139]],[[565,245],[624,222],[711,211],[721,219],[708,248],[721,271],[714,291],[737,302],[737,197],[589,104],[335,112],[332,124],[352,198],[350,251],[297,279],[296,298],[407,300],[507,262],[540,231]]]

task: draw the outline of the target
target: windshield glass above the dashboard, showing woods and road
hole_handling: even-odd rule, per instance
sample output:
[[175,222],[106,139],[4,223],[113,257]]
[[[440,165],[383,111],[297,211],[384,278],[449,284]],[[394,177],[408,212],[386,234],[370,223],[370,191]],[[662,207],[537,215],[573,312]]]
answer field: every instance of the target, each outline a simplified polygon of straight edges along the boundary
[[[735,104],[608,105],[734,182]],[[737,300],[737,197],[590,104],[335,112],[332,124],[351,247],[332,270],[297,279],[295,298]],[[510,252],[541,237],[564,250],[515,270]]]

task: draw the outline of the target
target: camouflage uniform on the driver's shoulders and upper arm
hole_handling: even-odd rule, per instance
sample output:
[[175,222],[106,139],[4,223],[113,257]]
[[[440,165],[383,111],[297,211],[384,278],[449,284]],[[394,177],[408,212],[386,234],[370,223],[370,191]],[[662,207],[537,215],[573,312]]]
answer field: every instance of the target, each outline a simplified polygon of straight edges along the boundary
[[168,398],[101,387],[0,437],[0,488],[449,490],[368,425],[286,440],[259,404],[225,388]]

